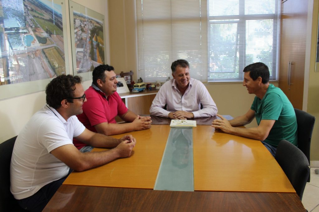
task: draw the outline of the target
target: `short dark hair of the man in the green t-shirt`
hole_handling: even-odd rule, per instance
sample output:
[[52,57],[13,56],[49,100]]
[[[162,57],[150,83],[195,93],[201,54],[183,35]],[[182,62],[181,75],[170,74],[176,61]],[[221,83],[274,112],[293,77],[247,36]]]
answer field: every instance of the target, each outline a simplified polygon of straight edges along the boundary
[[258,62],[253,63],[248,66],[246,66],[243,70],[243,72],[248,72],[251,79],[256,80],[258,77],[261,77],[262,83],[265,84],[269,82],[269,69],[268,66],[266,66],[264,63]]

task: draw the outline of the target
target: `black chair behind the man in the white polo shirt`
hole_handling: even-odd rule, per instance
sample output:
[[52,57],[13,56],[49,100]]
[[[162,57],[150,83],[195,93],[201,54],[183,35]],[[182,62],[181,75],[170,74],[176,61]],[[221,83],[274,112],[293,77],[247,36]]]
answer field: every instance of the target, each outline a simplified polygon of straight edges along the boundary
[[10,192],[10,163],[17,136],[0,144],[0,211],[26,211]]

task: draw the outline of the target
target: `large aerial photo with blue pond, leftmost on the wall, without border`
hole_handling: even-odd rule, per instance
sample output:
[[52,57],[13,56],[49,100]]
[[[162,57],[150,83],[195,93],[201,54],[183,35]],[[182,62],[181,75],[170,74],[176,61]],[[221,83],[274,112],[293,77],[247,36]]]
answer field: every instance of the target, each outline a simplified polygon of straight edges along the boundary
[[62,7],[0,0],[0,85],[65,74]]

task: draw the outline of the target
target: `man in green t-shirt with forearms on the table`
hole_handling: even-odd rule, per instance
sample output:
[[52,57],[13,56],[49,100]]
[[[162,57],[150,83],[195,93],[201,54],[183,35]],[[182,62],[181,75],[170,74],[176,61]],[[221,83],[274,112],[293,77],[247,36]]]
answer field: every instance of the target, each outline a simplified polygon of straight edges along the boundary
[[[261,63],[244,68],[243,86],[249,94],[255,94],[254,102],[245,115],[212,122],[212,127],[229,134],[260,140],[274,156],[278,143],[286,139],[297,146],[297,119],[293,105],[280,88],[269,84],[269,69]],[[236,128],[249,124],[256,117],[258,127]]]

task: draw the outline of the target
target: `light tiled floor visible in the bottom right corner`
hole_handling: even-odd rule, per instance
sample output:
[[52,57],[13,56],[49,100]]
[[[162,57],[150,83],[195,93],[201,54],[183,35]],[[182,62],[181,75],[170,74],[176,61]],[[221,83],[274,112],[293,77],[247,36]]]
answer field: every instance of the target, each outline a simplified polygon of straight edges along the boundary
[[307,183],[302,197],[302,204],[308,212],[319,212],[319,174],[315,174],[315,169],[310,168],[310,182]]

